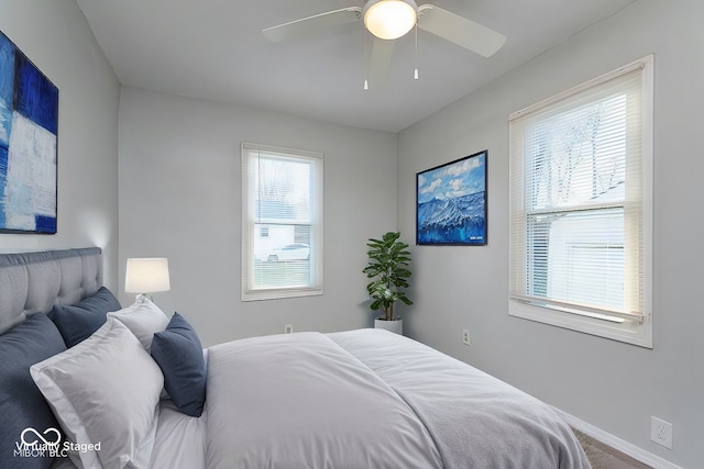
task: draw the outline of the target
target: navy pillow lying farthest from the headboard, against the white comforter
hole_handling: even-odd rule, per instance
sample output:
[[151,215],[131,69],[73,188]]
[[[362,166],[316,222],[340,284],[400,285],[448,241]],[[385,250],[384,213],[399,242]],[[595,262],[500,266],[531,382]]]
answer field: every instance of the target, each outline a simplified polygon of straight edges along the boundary
[[154,334],[152,357],[164,373],[164,388],[179,411],[199,417],[206,402],[206,361],[200,339],[178,313],[166,331]]

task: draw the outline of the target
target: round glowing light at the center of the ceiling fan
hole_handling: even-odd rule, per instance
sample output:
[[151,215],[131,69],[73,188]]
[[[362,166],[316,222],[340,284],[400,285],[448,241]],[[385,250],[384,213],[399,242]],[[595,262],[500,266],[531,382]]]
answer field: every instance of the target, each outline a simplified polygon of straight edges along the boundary
[[364,25],[378,38],[396,40],[414,27],[417,10],[413,0],[371,0],[364,7]]

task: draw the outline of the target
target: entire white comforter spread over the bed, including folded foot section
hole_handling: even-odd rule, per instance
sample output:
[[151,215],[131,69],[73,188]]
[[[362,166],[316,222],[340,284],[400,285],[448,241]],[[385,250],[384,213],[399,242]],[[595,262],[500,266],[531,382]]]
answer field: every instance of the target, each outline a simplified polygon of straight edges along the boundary
[[209,349],[208,468],[536,468],[588,461],[546,404],[385,331]]

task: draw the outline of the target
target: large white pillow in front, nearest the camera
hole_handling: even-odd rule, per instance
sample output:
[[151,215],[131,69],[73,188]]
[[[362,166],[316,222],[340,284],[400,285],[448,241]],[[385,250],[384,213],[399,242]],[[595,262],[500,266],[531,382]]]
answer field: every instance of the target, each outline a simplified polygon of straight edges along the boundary
[[[86,468],[146,468],[164,376],[130,330],[114,319],[30,372]],[[100,444],[100,450],[88,445]],[[152,443],[153,444],[153,443]]]

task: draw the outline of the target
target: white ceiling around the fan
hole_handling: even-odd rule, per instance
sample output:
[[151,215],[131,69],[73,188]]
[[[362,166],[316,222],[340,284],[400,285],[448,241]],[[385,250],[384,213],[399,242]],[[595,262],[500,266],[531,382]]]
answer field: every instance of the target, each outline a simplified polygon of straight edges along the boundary
[[[422,3],[425,0],[420,0]],[[169,93],[398,132],[635,0],[431,0],[507,36],[484,58],[427,32],[397,40],[363,90],[362,23],[271,44],[261,30],[364,0],[77,0],[118,79]]]

